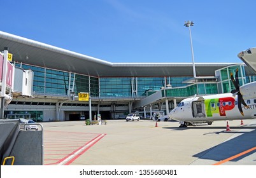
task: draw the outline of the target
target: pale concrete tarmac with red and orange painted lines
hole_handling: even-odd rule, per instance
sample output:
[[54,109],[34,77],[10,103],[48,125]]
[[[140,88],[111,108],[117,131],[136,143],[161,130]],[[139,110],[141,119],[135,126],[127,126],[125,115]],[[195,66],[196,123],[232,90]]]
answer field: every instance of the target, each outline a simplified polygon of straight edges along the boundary
[[44,165],[256,165],[256,120],[45,122]]

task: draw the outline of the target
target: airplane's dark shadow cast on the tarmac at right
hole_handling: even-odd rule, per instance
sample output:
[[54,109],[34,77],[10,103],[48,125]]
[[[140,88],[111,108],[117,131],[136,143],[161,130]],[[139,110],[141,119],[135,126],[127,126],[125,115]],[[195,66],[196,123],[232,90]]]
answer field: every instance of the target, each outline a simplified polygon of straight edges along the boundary
[[[179,128],[179,127],[163,127],[170,130],[177,130],[177,131],[183,131],[188,129],[196,129],[196,130],[204,130],[204,129],[222,129],[220,132],[210,132],[208,134],[238,134],[237,137],[234,137],[233,139],[227,140],[225,142],[222,142],[218,144],[217,146],[210,147],[209,149],[206,149],[200,153],[192,155],[193,157],[204,159],[204,160],[215,160],[215,161],[222,161],[227,158],[230,158],[231,156],[234,156],[236,154],[242,153],[248,149],[251,149],[256,146],[256,124],[250,124],[250,125],[243,125],[241,127],[231,127],[231,131],[226,131],[226,127],[211,127],[210,125],[200,125],[203,127],[193,127],[189,126],[187,128]],[[237,130],[237,131],[232,131]],[[239,131],[240,130],[240,131]],[[247,132],[246,132],[247,130]],[[204,134],[207,135],[207,134]],[[239,156],[238,158],[235,158],[231,161],[239,161],[246,156],[249,156],[250,154],[256,153],[256,149],[253,151],[243,154],[242,156]],[[253,165],[256,165],[256,160]]]

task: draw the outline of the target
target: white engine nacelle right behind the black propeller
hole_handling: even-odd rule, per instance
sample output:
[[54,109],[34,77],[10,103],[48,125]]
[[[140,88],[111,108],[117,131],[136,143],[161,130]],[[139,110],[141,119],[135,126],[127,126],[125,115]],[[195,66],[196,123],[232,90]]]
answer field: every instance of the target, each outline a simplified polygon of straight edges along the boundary
[[244,100],[256,99],[256,81],[240,86],[239,90]]

